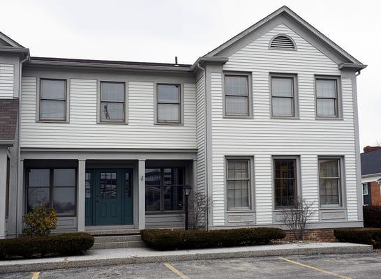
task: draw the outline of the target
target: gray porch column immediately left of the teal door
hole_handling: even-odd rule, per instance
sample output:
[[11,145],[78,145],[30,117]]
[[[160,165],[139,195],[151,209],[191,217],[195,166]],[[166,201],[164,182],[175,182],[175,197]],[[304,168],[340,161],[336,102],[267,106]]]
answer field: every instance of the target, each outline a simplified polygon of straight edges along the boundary
[[78,232],[84,232],[86,160],[78,160],[77,224]]

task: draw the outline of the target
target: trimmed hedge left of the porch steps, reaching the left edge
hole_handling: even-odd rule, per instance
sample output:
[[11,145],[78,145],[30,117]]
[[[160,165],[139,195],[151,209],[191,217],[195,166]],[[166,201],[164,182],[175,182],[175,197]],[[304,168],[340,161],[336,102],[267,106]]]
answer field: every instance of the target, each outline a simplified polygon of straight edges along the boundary
[[0,259],[45,255],[80,255],[94,244],[94,236],[83,232],[54,236],[20,236],[0,240]]

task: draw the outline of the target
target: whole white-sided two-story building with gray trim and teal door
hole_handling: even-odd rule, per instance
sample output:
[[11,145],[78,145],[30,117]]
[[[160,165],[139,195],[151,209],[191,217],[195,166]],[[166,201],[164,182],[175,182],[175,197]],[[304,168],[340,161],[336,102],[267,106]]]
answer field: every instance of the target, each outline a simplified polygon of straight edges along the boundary
[[365,67],[285,6],[193,65],[33,57],[0,33],[0,237],[41,202],[58,231],[181,227],[185,184],[211,229],[280,226],[298,197],[313,228],[361,227]]

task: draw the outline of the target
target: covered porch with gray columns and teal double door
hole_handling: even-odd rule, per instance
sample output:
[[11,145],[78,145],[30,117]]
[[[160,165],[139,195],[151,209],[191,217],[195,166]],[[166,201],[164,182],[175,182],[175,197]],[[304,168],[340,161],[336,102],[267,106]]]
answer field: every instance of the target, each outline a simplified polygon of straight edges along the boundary
[[195,158],[194,151],[24,150],[17,232],[41,202],[56,209],[57,232],[182,227],[182,186],[195,189]]

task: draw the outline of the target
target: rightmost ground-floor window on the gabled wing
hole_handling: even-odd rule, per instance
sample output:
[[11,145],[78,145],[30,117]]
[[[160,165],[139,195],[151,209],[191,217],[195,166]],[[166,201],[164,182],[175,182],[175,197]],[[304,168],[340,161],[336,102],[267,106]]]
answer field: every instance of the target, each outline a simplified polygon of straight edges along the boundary
[[319,158],[320,206],[341,205],[340,165],[340,158]]

